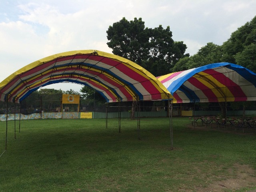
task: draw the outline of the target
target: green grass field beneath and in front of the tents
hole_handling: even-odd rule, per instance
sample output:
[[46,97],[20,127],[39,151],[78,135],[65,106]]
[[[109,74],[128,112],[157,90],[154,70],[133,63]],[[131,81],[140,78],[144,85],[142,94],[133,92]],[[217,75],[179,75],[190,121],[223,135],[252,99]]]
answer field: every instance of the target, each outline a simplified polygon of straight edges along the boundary
[[[256,169],[256,135],[187,128],[173,118],[22,120],[0,122],[1,192],[204,191],[236,178],[234,165]],[[232,170],[232,171],[231,171]],[[255,175],[252,175],[255,176]],[[256,189],[255,183],[235,191]],[[223,191],[234,191],[224,188]]]

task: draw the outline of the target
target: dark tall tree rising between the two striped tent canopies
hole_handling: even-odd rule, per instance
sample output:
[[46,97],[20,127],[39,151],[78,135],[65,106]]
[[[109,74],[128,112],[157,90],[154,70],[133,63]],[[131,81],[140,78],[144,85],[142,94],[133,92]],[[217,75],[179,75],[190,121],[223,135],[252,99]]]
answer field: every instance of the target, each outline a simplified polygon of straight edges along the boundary
[[169,26],[145,28],[142,18],[133,21],[122,18],[109,26],[107,38],[113,54],[139,64],[155,76],[170,72],[180,58],[189,56],[185,54],[186,44],[172,39]]

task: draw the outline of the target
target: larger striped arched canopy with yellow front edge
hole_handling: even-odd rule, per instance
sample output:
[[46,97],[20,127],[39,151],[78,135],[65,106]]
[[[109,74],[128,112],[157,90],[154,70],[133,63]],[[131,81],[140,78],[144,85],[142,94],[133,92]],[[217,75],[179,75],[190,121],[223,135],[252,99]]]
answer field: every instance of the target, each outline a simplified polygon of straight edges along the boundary
[[72,82],[89,86],[107,102],[162,100],[170,92],[141,66],[98,50],[48,56],[24,66],[0,83],[0,100],[20,102],[49,84]]

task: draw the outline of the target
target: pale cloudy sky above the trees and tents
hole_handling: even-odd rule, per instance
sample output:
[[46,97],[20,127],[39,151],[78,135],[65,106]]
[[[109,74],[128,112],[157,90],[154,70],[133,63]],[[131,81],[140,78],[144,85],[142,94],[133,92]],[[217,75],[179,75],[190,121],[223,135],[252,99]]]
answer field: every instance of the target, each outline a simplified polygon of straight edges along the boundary
[[[195,54],[221,45],[256,15],[256,0],[0,0],[0,82],[41,58],[94,49],[108,53],[106,30],[123,17],[170,26],[173,39]],[[44,88],[79,91],[76,84]]]

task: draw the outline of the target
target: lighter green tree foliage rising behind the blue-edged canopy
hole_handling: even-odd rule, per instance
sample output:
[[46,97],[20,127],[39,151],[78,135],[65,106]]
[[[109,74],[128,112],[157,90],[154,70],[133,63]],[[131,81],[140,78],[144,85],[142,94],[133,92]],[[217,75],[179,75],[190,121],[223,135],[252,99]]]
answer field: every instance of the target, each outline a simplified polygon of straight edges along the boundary
[[256,72],[256,16],[233,32],[222,45],[209,42],[193,56],[181,58],[172,72],[216,62],[231,62]]

